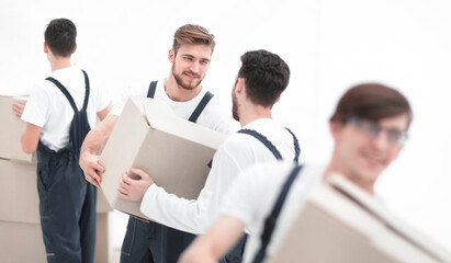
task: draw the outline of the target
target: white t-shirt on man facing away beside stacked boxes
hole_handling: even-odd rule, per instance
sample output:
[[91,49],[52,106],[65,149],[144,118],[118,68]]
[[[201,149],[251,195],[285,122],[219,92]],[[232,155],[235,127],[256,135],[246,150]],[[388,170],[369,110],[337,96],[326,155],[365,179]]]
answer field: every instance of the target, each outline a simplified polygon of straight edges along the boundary
[[[95,126],[97,113],[110,105],[110,96],[93,81],[89,72],[88,122]],[[77,108],[84,101],[84,76],[80,68],[71,66],[55,70],[49,77],[58,80],[72,96]],[[74,110],[63,92],[50,81],[41,80],[32,90],[22,113],[22,119],[42,128],[41,141],[52,150],[59,150],[69,144],[69,128]]]

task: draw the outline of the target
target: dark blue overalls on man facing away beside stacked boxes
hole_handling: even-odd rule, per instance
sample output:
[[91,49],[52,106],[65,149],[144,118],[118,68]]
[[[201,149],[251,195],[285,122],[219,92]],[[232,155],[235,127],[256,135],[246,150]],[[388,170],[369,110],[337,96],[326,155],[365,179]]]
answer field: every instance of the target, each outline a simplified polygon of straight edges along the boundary
[[68,146],[54,151],[40,140],[36,149],[41,227],[49,263],[94,262],[97,190],[78,164],[81,144],[90,130],[86,113],[89,79],[82,72],[86,95],[80,111],[59,81],[46,79],[58,87],[75,112]]

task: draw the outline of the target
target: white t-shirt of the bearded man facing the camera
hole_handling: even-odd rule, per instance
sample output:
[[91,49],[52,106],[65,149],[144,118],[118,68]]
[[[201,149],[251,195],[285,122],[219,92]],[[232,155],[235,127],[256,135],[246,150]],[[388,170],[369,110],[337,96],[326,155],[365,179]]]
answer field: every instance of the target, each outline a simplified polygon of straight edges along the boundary
[[[149,85],[150,81],[126,87],[125,90],[120,92],[117,100],[114,100],[110,114],[121,116],[128,98],[147,98]],[[165,80],[161,79],[157,82],[154,99],[167,102],[177,116],[188,119],[205,93],[206,89],[203,88],[201,92],[190,101],[172,101],[166,93]],[[230,134],[235,132],[237,127],[237,123],[232,118],[232,111],[229,111],[228,115],[225,114],[225,112],[219,108],[216,96],[210,100],[195,123],[223,134]]]

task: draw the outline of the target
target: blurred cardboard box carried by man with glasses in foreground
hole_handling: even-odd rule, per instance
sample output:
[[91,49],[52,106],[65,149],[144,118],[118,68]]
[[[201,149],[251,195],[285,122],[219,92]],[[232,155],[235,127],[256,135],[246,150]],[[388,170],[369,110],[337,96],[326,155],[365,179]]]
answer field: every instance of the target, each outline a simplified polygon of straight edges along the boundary
[[341,176],[313,193],[268,262],[451,262],[440,245]]

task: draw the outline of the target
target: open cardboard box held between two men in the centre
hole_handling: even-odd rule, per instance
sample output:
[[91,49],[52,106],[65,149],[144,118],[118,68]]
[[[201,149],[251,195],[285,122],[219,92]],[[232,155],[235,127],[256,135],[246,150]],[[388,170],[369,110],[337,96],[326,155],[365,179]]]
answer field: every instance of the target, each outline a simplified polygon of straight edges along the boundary
[[167,192],[196,198],[210,172],[207,164],[225,138],[178,117],[162,101],[131,99],[101,156],[103,193],[113,208],[149,219],[140,213],[140,203],[122,199],[116,192],[121,174],[139,168]]

